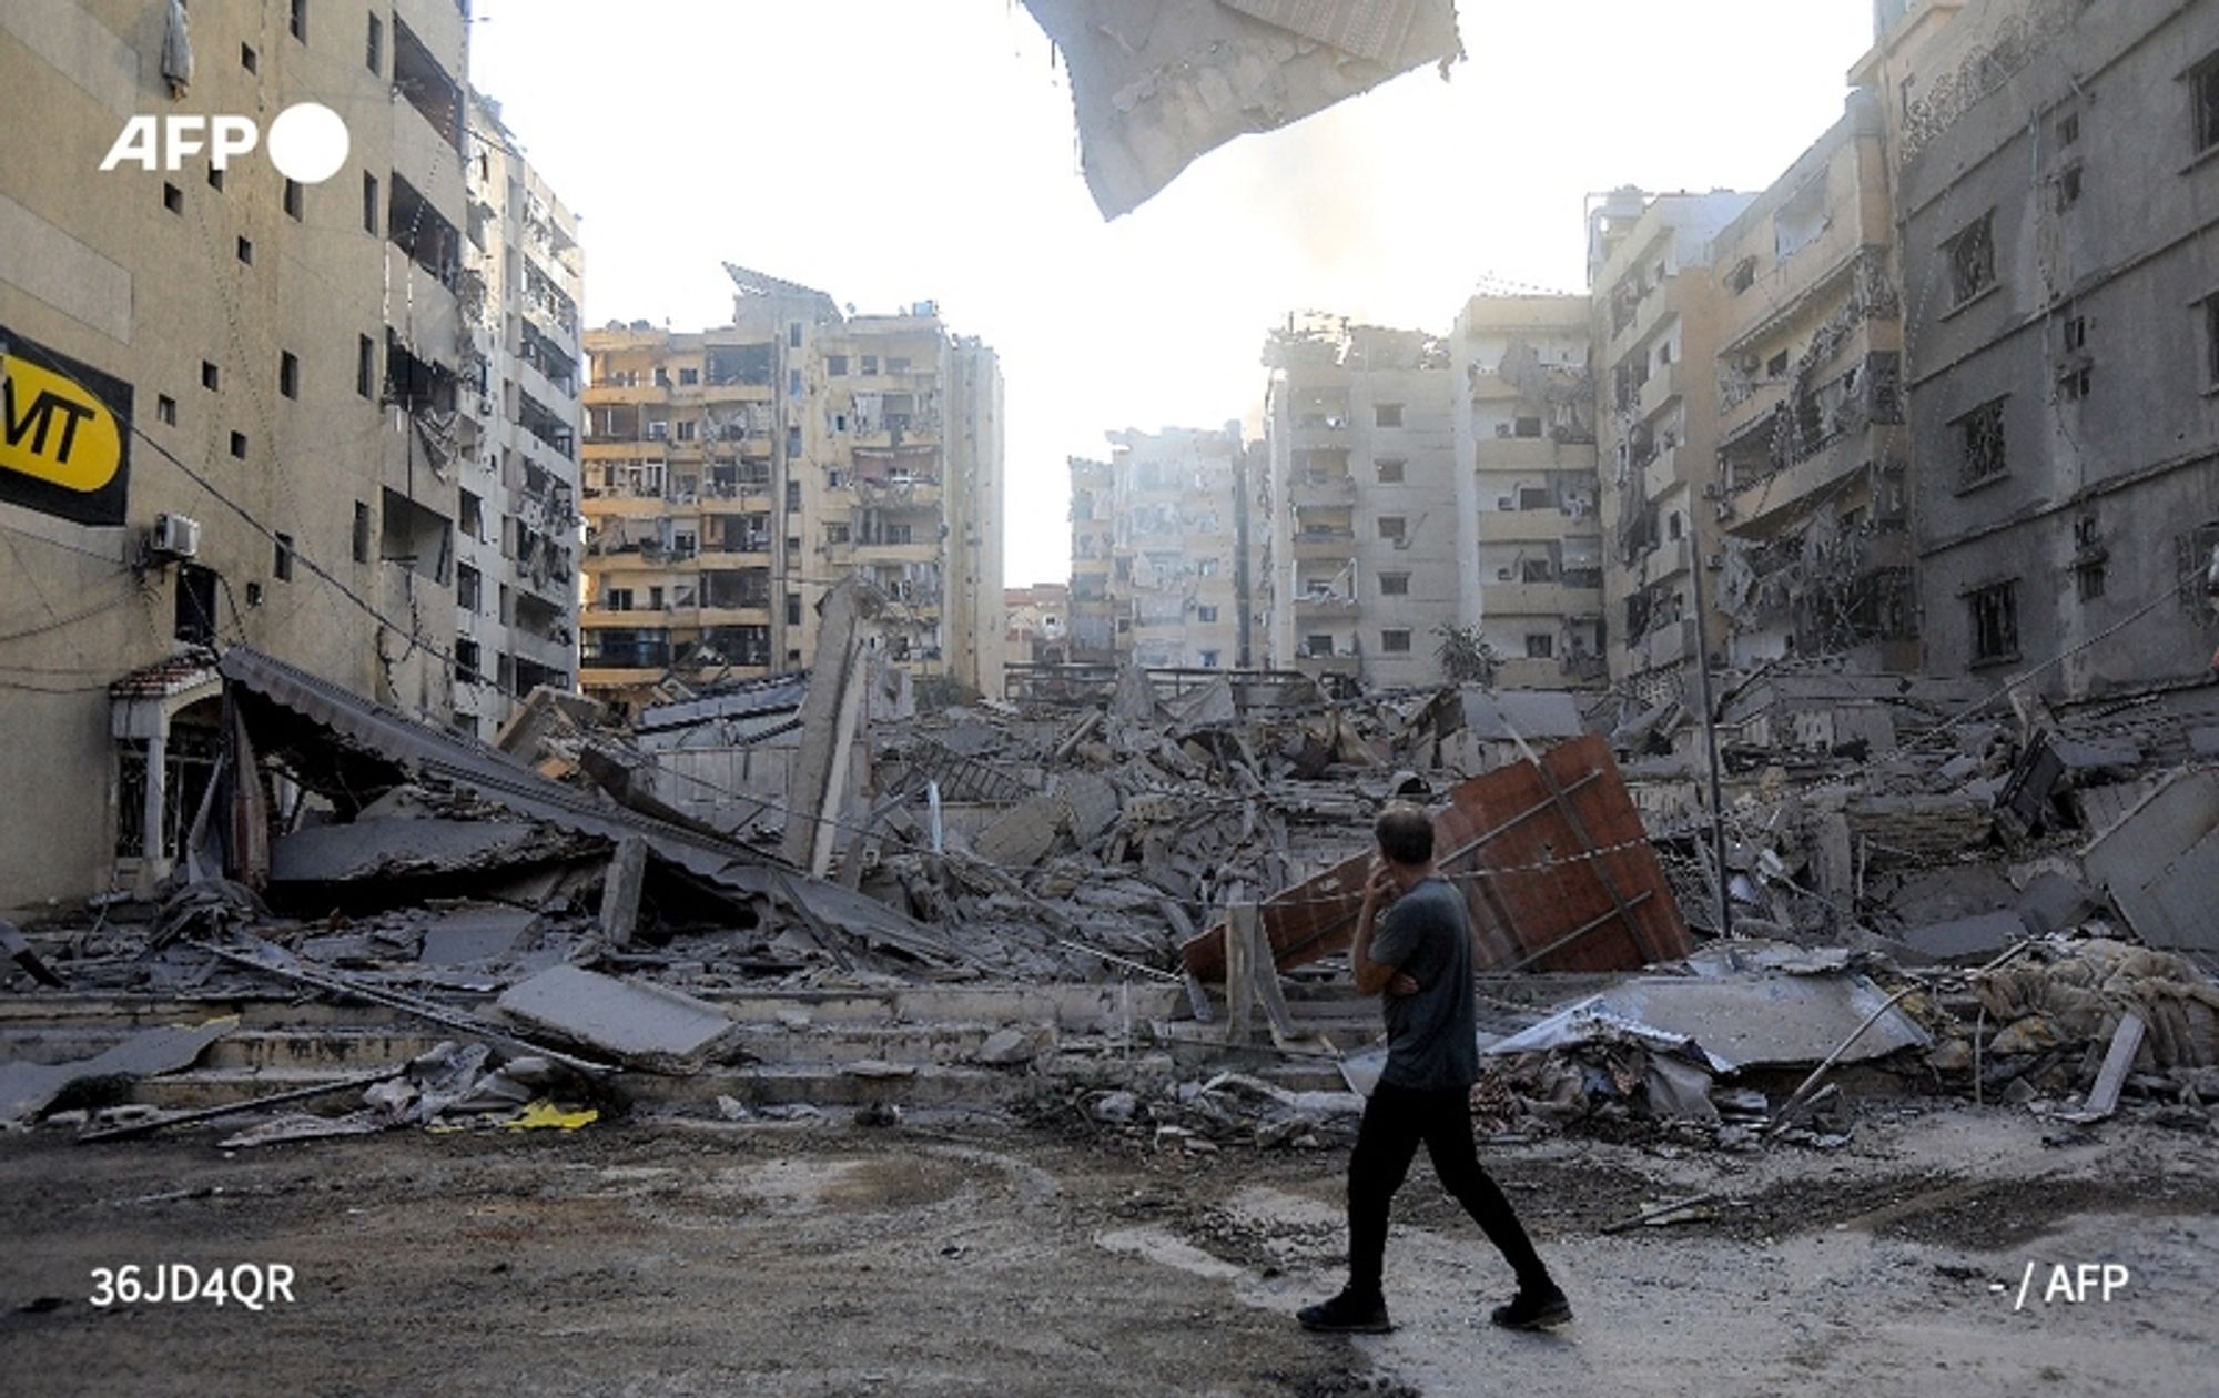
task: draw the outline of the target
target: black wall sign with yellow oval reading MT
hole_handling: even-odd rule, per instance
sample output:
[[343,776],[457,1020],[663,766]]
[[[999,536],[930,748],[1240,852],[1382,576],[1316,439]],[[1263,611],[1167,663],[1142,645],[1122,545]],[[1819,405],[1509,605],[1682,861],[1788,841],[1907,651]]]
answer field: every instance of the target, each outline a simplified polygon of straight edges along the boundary
[[124,521],[131,388],[0,326],[0,499]]

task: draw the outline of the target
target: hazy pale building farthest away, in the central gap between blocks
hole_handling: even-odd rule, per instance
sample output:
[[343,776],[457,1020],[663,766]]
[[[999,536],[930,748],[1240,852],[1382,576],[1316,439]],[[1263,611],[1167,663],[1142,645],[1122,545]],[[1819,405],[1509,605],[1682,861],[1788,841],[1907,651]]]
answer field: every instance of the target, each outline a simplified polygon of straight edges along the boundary
[[1240,426],[1125,430],[1110,444],[1110,462],[1070,459],[1074,581],[1090,579],[1083,637],[1074,612],[1076,659],[1245,663],[1252,606],[1238,584],[1252,513]]

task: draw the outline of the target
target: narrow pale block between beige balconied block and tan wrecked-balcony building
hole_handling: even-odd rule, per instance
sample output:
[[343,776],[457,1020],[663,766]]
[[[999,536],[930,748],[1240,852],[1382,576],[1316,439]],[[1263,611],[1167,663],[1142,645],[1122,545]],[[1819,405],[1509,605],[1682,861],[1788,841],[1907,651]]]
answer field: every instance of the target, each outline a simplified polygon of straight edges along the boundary
[[[1638,695],[1675,692],[1698,657],[1693,570],[1722,528],[1709,244],[1751,197],[1620,189],[1589,211],[1607,655],[1611,681]],[[1724,624],[1704,601],[1715,650]]]

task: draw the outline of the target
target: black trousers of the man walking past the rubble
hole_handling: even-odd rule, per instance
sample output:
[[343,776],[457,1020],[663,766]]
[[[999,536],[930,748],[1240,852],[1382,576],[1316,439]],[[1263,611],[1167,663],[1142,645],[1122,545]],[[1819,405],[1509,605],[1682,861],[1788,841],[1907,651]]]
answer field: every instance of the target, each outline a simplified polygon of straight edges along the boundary
[[1416,1092],[1380,1083],[1365,1103],[1365,1123],[1356,1132],[1356,1154],[1349,1156],[1349,1289],[1358,1296],[1380,1294],[1380,1274],[1387,1260],[1387,1205],[1402,1187],[1409,1163],[1418,1154],[1418,1143],[1433,1156],[1433,1174],[1440,1187],[1465,1205],[1471,1220],[1487,1232],[1511,1269],[1518,1272],[1520,1287],[1549,1283],[1533,1240],[1511,1212],[1511,1201],[1480,1167],[1480,1156],[1471,1147],[1471,1094],[1462,1087],[1449,1092]]

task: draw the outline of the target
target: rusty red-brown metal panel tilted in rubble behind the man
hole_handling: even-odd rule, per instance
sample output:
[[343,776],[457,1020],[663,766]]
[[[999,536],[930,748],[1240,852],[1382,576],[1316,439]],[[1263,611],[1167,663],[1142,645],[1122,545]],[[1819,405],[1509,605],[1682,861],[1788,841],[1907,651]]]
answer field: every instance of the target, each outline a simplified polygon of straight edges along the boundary
[[[1633,970],[1693,950],[1664,868],[1609,743],[1589,735],[1473,777],[1433,817],[1440,872],[1471,910],[1473,965],[1551,972]],[[1280,968],[1349,945],[1371,852],[1263,903]],[[1225,976],[1225,930],[1181,950],[1189,972]]]

